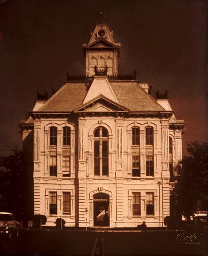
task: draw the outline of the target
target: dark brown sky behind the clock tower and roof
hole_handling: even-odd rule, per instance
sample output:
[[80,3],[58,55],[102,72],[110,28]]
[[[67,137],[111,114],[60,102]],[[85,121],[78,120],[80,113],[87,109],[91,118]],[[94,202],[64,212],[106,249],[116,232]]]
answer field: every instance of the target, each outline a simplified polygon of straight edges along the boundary
[[[0,0],[0,155],[21,146],[20,120],[36,92],[51,92],[65,73],[84,74],[82,44],[101,21],[121,42],[119,73],[168,90],[176,117],[187,122],[183,138],[206,140],[205,0]],[[1,37],[0,37],[1,38]]]

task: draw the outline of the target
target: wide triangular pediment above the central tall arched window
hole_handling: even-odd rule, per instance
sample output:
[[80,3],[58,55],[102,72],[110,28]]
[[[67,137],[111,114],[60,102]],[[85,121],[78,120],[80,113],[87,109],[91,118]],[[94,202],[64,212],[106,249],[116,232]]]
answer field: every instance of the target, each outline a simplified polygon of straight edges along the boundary
[[117,104],[103,95],[99,95],[95,99],[81,105],[80,107],[74,109],[75,113],[94,113],[94,112],[128,112],[129,110],[120,104]]

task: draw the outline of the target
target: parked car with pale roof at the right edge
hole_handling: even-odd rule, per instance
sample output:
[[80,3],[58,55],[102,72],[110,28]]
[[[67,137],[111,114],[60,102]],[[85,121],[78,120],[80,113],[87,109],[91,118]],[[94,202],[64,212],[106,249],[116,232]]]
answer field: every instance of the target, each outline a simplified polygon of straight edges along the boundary
[[196,214],[186,228],[189,232],[205,234],[207,232],[207,214]]

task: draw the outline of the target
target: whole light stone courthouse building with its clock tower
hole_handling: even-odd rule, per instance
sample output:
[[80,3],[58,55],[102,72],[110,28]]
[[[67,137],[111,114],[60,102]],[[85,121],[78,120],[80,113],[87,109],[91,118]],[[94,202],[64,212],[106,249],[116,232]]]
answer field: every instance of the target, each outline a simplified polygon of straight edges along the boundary
[[34,214],[49,226],[61,217],[67,227],[163,227],[186,125],[135,73],[118,73],[120,43],[107,23],[83,49],[85,75],[39,95],[20,124]]

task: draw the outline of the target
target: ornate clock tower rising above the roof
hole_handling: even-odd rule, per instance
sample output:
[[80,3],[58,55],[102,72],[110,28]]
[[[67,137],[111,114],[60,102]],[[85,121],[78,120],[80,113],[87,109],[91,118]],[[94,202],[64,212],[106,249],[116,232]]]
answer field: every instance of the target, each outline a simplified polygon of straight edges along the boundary
[[117,76],[120,45],[114,42],[113,31],[106,22],[96,23],[89,43],[83,44],[86,76],[94,76],[96,72]]

